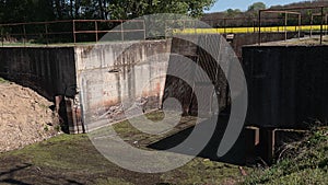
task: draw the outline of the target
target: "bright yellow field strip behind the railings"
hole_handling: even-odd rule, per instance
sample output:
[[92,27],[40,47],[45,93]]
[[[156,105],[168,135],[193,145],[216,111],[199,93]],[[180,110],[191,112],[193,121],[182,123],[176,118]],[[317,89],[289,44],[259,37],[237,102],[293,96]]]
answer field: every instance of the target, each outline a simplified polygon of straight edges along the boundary
[[[226,28],[186,28],[186,30],[173,30],[175,34],[224,34],[224,33],[254,33],[258,32],[258,27],[226,27]],[[303,26],[269,26],[261,27],[261,32],[298,32],[301,31],[320,31],[320,25],[303,25]],[[324,31],[327,31],[328,26],[324,25]]]

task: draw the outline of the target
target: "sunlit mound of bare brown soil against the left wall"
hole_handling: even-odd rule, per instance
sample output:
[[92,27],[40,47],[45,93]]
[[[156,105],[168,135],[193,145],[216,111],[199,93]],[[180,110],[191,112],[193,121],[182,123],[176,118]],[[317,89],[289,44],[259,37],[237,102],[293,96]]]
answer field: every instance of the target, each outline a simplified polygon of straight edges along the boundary
[[28,88],[0,81],[0,152],[42,141],[57,134],[52,105]]

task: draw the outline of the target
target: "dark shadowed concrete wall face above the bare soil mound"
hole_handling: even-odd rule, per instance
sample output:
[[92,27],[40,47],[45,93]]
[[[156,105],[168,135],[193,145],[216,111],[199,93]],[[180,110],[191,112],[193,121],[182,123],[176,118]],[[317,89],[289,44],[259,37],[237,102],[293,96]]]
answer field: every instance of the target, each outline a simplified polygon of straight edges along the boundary
[[1,47],[0,77],[37,91],[48,100],[75,94],[73,47]]

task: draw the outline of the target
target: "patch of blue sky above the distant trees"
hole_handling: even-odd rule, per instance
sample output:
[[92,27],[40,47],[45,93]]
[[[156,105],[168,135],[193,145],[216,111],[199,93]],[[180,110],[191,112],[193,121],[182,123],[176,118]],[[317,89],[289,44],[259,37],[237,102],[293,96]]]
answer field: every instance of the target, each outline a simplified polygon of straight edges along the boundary
[[211,10],[206,12],[220,12],[227,9],[241,9],[242,11],[245,11],[254,2],[263,2],[269,8],[271,5],[283,5],[301,1],[305,0],[216,0],[216,3],[211,8]]

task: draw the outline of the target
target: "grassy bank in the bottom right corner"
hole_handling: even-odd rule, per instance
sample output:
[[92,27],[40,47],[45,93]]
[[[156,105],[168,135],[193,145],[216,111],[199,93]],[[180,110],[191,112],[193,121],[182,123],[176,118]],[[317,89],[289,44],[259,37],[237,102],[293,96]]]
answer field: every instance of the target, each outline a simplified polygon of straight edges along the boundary
[[328,128],[312,130],[301,142],[289,146],[283,158],[267,170],[255,170],[244,184],[327,184]]

